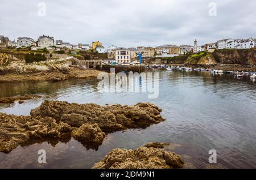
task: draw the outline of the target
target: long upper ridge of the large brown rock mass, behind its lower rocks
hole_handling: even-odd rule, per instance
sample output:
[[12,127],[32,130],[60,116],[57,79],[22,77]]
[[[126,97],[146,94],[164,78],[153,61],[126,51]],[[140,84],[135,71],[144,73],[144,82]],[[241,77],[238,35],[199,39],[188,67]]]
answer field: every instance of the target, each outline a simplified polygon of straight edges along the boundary
[[114,132],[127,128],[148,127],[164,121],[154,104],[138,103],[134,106],[119,104],[100,106],[97,104],[76,104],[63,101],[44,101],[38,108],[31,110],[32,117],[51,117],[57,122],[80,127],[84,123],[97,123],[104,132]]

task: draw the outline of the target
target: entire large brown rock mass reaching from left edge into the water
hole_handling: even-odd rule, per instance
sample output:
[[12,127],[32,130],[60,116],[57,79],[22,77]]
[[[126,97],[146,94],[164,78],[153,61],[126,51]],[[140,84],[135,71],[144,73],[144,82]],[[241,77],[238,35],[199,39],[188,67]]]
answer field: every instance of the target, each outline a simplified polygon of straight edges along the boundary
[[30,116],[0,113],[0,152],[18,145],[68,142],[71,137],[87,149],[97,149],[105,135],[127,128],[146,128],[164,121],[159,109],[149,102],[128,105],[69,104],[44,101]]

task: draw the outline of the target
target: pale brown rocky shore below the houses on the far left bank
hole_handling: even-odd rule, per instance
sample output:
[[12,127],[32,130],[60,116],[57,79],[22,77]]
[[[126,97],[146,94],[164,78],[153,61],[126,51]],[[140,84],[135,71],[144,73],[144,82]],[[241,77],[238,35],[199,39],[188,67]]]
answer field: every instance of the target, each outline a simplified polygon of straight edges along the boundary
[[0,68],[0,82],[49,80],[52,82],[71,78],[96,78],[101,71],[86,68],[75,58],[60,62],[26,64],[11,62]]

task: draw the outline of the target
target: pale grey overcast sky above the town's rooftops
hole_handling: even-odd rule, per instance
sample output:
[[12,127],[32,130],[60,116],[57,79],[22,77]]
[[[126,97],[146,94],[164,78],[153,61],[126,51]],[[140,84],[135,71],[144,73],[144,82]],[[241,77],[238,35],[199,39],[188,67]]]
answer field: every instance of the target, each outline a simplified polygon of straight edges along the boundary
[[[39,2],[46,16],[40,16]],[[216,16],[209,15],[211,2]],[[99,40],[129,48],[256,38],[255,0],[1,0],[0,12],[0,35],[10,40],[49,35],[72,44]]]

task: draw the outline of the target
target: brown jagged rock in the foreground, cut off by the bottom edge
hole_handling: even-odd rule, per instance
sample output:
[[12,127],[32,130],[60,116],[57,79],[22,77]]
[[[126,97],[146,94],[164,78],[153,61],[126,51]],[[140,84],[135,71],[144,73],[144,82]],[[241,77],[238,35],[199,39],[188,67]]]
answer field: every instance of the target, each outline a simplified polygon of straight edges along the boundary
[[163,149],[165,143],[150,143],[135,150],[116,148],[110,151],[94,169],[170,169],[182,168],[179,155]]

